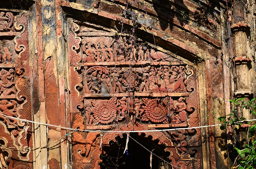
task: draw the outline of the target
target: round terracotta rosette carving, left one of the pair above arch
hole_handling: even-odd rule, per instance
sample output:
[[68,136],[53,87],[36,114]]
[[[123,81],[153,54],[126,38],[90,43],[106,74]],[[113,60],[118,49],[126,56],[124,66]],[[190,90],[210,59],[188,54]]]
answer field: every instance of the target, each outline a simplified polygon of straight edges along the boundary
[[109,124],[117,117],[116,97],[109,100],[92,100],[93,123]]

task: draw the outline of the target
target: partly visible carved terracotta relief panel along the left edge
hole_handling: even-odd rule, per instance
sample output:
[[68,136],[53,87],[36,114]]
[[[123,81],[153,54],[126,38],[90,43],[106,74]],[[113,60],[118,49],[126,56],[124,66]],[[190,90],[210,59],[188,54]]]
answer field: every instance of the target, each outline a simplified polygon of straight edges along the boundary
[[32,119],[27,17],[0,11],[0,168],[32,168],[31,127],[25,131],[26,122],[6,117]]

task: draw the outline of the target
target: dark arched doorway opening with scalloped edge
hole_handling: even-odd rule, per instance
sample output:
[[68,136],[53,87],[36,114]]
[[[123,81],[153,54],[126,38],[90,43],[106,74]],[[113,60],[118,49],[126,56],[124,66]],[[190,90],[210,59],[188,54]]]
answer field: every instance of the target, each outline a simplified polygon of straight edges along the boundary
[[[116,136],[116,142],[110,141],[109,146],[104,146],[105,154],[101,154],[101,169],[150,169],[150,152],[165,161],[170,153],[163,151],[165,146],[158,145],[158,140],[152,141],[145,134],[131,133],[128,142],[128,151],[124,153],[127,135],[123,138]],[[141,145],[140,145],[140,144]],[[144,146],[144,147],[143,147]],[[148,151],[149,150],[149,151]],[[123,154],[124,153],[124,154]],[[152,169],[171,169],[164,160],[152,155]]]

